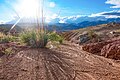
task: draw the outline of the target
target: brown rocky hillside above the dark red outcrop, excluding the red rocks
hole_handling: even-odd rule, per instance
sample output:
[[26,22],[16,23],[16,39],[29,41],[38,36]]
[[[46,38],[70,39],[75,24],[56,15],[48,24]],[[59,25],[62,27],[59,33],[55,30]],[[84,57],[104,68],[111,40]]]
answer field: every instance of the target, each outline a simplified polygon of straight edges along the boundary
[[79,30],[67,31],[62,34],[65,40],[82,44],[101,42],[120,36],[120,23],[110,23],[98,26],[91,26]]

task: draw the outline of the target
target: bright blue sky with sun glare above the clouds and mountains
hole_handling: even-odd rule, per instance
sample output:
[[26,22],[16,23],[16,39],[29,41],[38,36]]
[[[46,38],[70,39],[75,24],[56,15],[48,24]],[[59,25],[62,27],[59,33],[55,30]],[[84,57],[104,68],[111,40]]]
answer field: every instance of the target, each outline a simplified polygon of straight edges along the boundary
[[[0,0],[0,22],[20,17],[35,16],[38,0]],[[45,0],[47,19],[70,16],[99,16],[107,12],[120,12],[120,0]]]

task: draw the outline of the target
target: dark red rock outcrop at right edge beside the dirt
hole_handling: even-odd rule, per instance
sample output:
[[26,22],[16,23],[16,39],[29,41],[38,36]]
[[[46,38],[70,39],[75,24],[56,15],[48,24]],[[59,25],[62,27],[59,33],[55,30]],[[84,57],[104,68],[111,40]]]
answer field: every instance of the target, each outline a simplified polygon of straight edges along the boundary
[[109,40],[105,42],[86,44],[82,47],[84,51],[102,55],[111,59],[120,59],[120,40]]

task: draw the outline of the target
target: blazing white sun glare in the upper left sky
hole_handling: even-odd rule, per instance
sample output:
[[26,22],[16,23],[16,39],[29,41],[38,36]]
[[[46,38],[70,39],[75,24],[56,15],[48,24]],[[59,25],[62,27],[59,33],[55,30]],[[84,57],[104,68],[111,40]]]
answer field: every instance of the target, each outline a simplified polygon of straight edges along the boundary
[[40,7],[39,0],[20,0],[17,4],[17,11],[22,17],[35,17]]

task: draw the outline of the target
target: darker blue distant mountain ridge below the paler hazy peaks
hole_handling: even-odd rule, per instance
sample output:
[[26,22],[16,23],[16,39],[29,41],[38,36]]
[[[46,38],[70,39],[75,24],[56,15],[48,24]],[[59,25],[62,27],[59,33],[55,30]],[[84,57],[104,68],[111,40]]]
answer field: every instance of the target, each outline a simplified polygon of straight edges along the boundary
[[[56,23],[54,26],[56,26],[57,31],[69,31],[69,30],[75,30],[80,28],[85,28],[89,26],[97,26],[101,24],[108,24],[108,23],[120,23],[120,18],[110,18],[105,21],[98,20],[98,21],[83,21],[80,23]],[[50,27],[53,25],[50,25]]]

